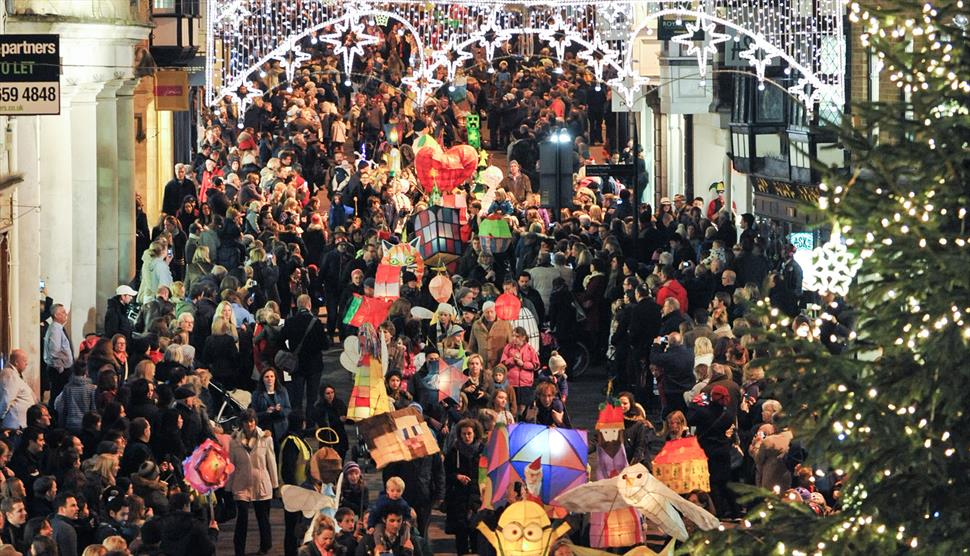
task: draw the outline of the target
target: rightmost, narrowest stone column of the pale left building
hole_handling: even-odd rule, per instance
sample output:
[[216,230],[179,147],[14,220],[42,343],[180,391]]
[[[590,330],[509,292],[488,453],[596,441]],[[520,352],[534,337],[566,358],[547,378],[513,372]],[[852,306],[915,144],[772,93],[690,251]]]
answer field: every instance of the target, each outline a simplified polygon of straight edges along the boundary
[[135,85],[118,89],[118,283],[135,276]]

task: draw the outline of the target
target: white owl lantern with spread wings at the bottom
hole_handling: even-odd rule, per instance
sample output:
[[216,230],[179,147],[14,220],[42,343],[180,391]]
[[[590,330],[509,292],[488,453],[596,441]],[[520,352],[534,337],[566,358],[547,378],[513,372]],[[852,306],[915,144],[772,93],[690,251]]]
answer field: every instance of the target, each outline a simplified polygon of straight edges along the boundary
[[664,533],[680,541],[687,540],[687,527],[678,511],[701,529],[710,530],[720,525],[717,517],[671,490],[640,463],[627,467],[611,479],[564,492],[555,503],[577,513],[636,508]]

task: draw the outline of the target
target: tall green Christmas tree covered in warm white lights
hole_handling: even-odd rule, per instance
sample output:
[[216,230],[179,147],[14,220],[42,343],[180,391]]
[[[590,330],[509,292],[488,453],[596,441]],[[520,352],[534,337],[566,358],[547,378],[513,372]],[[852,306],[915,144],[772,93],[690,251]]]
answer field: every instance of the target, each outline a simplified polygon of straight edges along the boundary
[[[828,245],[835,264],[823,278],[835,293],[848,285],[853,333],[838,337],[826,320],[831,296],[800,333],[761,304],[770,394],[806,464],[840,478],[838,511],[817,515],[784,493],[742,488],[753,504],[747,519],[695,536],[691,552],[970,548],[967,14],[962,1],[849,7],[895,85],[889,101],[884,87],[882,101],[853,105],[839,131],[851,163],[821,186],[819,208],[842,236]],[[849,261],[861,263],[858,273]]]

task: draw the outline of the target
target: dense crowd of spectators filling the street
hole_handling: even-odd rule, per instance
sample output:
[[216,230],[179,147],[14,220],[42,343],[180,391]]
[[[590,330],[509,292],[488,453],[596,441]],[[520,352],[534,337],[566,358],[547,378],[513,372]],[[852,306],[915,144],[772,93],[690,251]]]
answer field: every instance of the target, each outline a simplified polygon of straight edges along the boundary
[[[791,490],[819,513],[837,508],[837,481],[804,465],[771,399],[777,385],[751,364],[748,310],[764,298],[796,333],[817,334],[784,235],[738,217],[720,194],[710,205],[665,197],[654,209],[632,184],[581,177],[604,161],[593,146],[614,161],[643,161],[609,91],[572,55],[559,73],[548,53],[514,56],[505,46],[493,66],[465,68],[458,86],[415,105],[396,88],[413,66],[396,25],[368,28],[381,40],[359,57],[353,86],[329,47],[308,43],[314,61],[292,82],[267,64],[244,113],[228,100],[211,112],[194,159],[164,187],[154,227],[139,201],[138,276],[104,300],[100,334],[69,338],[67,308],[45,300],[43,360],[14,351],[0,372],[0,555],[212,554],[219,524],[232,519],[242,555],[250,510],[260,554],[278,550],[274,511],[285,514],[287,556],[431,554],[435,509],[458,554],[491,553],[475,530],[501,511],[481,509],[489,431],[570,427],[570,362],[499,319],[501,293],[518,296],[559,344],[582,340],[608,369],[602,386],[623,408],[631,464],[649,467],[665,442],[696,435],[711,493],[691,500],[713,503],[720,518],[740,515],[732,480]],[[434,300],[435,272],[405,268],[380,326],[388,395],[422,412],[441,453],[388,465],[371,496],[367,454],[346,417],[350,392],[331,384],[345,371],[323,354],[357,333],[342,318],[353,296],[374,295],[383,253],[414,237],[411,217],[431,202],[411,167],[413,145],[463,143],[468,114],[484,116],[487,146],[505,152],[507,173],[489,206],[473,180],[463,186],[472,235],[449,268],[453,299]],[[539,205],[538,144],[563,128],[575,138],[578,175],[570,206],[554,214]],[[510,224],[508,251],[482,249],[487,214]],[[841,349],[851,312],[823,301],[818,339]],[[434,324],[413,316],[416,307]],[[439,402],[420,377],[460,351],[467,382],[460,399]],[[282,364],[286,355],[292,364]],[[39,399],[22,378],[31,365],[42,366]],[[322,465],[313,457],[321,429],[335,437],[325,445],[339,458],[342,489],[335,517],[310,521],[278,509],[278,489],[321,488],[311,473]],[[206,439],[225,446],[236,469],[211,506],[182,469]],[[515,488],[508,500],[523,496]]]

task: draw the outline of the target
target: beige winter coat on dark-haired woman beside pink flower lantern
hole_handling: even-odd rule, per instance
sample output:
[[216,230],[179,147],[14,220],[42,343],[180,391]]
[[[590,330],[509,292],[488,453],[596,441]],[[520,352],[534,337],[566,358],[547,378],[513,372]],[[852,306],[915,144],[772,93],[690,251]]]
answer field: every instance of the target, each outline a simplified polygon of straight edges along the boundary
[[229,457],[236,471],[229,476],[226,488],[236,500],[270,500],[273,490],[279,487],[273,438],[269,431],[257,427],[256,438],[251,441],[252,449],[247,450],[242,440],[243,434],[239,431],[230,441]]

